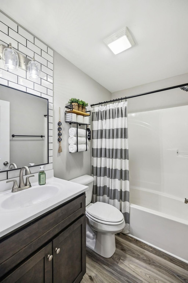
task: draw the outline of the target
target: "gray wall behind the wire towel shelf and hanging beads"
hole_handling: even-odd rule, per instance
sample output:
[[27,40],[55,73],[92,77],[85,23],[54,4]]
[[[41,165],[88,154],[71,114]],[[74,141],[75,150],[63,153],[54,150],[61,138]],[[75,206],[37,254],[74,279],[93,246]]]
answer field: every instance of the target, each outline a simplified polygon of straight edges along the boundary
[[[91,142],[89,142],[87,152],[69,153],[68,130],[71,125],[65,123],[65,106],[71,97],[82,99],[90,105],[110,100],[111,93],[57,52],[54,52],[53,59],[53,170],[55,177],[70,180],[84,174],[91,174]],[[58,153],[59,142],[57,140],[59,107],[61,107],[62,121],[62,153]],[[87,110],[90,110],[90,106],[87,107]],[[81,127],[85,128],[85,126]]]

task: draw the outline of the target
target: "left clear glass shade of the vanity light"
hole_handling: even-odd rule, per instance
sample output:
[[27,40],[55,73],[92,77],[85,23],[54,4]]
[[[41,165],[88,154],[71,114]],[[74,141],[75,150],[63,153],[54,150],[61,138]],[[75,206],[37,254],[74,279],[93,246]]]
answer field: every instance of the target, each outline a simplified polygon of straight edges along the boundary
[[17,71],[19,66],[18,54],[11,48],[3,50],[4,68],[8,71]]

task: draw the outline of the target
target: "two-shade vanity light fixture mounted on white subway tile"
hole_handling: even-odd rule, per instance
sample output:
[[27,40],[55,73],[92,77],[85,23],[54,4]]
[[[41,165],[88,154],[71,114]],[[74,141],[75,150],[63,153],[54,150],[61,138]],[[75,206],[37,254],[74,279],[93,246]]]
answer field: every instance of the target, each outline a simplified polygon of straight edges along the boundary
[[3,44],[0,45],[0,59],[4,61],[4,67],[8,71],[17,71],[19,67],[30,73],[29,78],[33,80],[40,78],[40,64],[35,61],[35,57],[31,61],[31,59],[14,51],[11,43],[9,43],[8,48]]

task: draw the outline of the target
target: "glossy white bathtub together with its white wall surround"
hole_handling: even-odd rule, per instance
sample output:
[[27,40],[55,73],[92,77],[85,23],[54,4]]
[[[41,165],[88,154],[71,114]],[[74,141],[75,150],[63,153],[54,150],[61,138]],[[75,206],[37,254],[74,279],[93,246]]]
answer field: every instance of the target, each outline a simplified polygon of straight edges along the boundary
[[188,106],[130,113],[128,127],[129,235],[188,263]]

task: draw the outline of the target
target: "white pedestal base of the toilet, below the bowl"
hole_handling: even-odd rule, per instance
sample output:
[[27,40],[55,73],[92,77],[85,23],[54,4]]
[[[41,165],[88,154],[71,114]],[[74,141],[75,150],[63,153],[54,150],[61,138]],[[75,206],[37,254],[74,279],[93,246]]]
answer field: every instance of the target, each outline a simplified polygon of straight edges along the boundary
[[95,232],[88,224],[86,218],[86,246],[105,258],[115,253],[115,234]]

